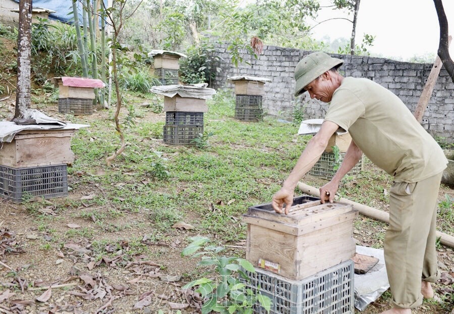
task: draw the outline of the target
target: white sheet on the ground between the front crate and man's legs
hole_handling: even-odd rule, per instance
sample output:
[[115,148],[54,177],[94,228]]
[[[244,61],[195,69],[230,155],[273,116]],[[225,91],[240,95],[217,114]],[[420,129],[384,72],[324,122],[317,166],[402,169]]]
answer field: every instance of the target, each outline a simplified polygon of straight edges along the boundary
[[373,256],[378,263],[365,274],[355,274],[355,307],[360,311],[389,288],[383,250],[356,246],[356,253]]

